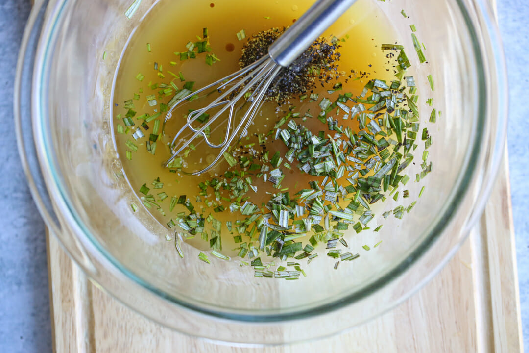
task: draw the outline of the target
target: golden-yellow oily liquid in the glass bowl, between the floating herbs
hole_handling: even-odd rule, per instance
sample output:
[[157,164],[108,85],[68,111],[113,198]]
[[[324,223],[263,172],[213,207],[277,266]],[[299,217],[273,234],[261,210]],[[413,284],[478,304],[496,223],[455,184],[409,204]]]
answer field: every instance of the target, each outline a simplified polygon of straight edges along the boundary
[[[113,102],[115,107],[113,115],[125,115],[127,110],[123,107],[123,102],[128,99],[133,99],[134,110],[137,112],[136,117],[144,113],[150,115],[156,113],[155,109],[158,106],[149,106],[147,95],[154,94],[158,96],[159,88],[151,89],[150,84],[170,84],[172,81],[179,88],[185,84],[185,82],[181,82],[179,78],[174,77],[168,71],[176,74],[181,72],[186,82],[195,82],[194,88],[196,89],[238,70],[241,48],[251,34],[268,30],[272,27],[290,25],[311,5],[312,1],[306,0],[160,1],[153,7],[132,35],[130,43],[123,53],[114,86]],[[374,1],[358,1],[323,34],[327,38],[334,35],[337,38],[346,39],[342,43],[340,50],[339,67],[346,73],[354,70],[355,75],[347,83],[344,80],[340,80],[343,83],[341,93],[350,92],[353,95],[358,95],[368,79],[391,80],[393,77],[393,70],[391,69],[393,64],[380,51],[380,44],[395,43],[398,38],[391,29],[390,21],[377,6],[378,4]],[[175,55],[175,52],[185,51],[186,43],[196,41],[197,35],[202,37],[203,28],[208,29],[212,52],[221,61],[215,62],[211,66],[206,65],[204,54],[197,54],[195,59],[180,61],[179,56]],[[236,33],[241,30],[244,30],[247,35],[247,38],[243,40],[239,40],[236,36]],[[158,70],[154,69],[155,63],[158,65]],[[160,77],[160,66],[162,67],[161,74],[164,78]],[[139,73],[144,76],[141,82],[136,79],[136,75]],[[362,78],[358,73],[367,73],[367,75]],[[355,77],[358,77],[358,79],[354,80]],[[330,88],[332,86],[318,87],[315,89],[315,93],[318,93],[321,99],[327,95],[327,90]],[[334,93],[334,95],[337,94]],[[331,96],[330,98],[332,99]],[[158,98],[158,103],[168,103],[169,99],[170,96],[162,99]],[[280,107],[279,111],[277,110],[277,104],[266,103],[249,129],[250,137],[243,138],[241,143],[255,142],[255,139],[251,138],[254,133],[268,132],[279,117],[285,114],[284,111],[289,106],[295,106],[295,111],[299,111],[301,115],[308,111],[316,116],[320,111],[318,102],[319,99],[317,102],[308,102],[308,99],[305,99],[303,103],[300,103],[299,99],[293,98],[289,102],[290,104]],[[164,114],[159,118],[161,121],[163,121],[163,116]],[[174,117],[165,126],[165,136],[161,137],[157,142],[155,155],[147,151],[145,139],[134,141],[132,138],[134,129],[129,131],[129,133],[115,133],[116,148],[122,160],[127,180],[129,180],[132,189],[138,194],[139,198],[144,196],[138,192],[143,184],[147,184],[151,189],[150,193],[157,198],[156,203],[160,205],[165,215],[156,206],[149,209],[149,211],[162,224],[174,219],[176,213],[187,211],[183,205],[177,205],[173,212],[169,212],[169,203],[172,196],[186,195],[194,203],[200,191],[197,185],[200,182],[211,179],[215,175],[221,174],[227,167],[226,162],[223,161],[212,171],[200,176],[170,173],[167,168],[162,167],[163,162],[170,157],[167,143],[172,140],[172,135],[185,122],[183,116],[183,112],[174,113]],[[136,117],[133,120],[136,121],[137,127],[139,123]],[[307,119],[305,122],[297,122],[303,123],[311,130],[326,130],[326,126],[318,121],[316,117]],[[114,131],[116,131],[116,124],[122,124],[122,120],[115,119]],[[355,121],[344,120],[343,124],[344,126],[350,124],[353,130],[358,129]],[[150,131],[143,130],[143,132],[148,137]],[[131,160],[126,158],[126,151],[129,150],[125,146],[127,140],[133,141],[138,145],[138,151],[131,153]],[[205,161],[211,160],[214,153],[214,151],[204,148],[204,144],[195,144],[197,145],[196,150],[191,151],[186,158],[187,169],[190,171],[196,170],[199,162],[202,162],[203,165]],[[269,138],[267,146],[270,150],[270,156],[275,151],[280,151],[282,155],[287,151],[282,142],[274,141],[273,138]],[[291,194],[294,194],[299,189],[307,188],[308,182],[315,179],[315,177],[298,170],[295,165],[291,170],[285,170],[289,174],[285,172],[287,176],[281,187],[289,188]],[[160,178],[163,183],[162,189],[154,189],[152,186],[153,180],[157,178]],[[272,187],[271,183],[262,183],[262,180],[260,181],[256,177],[252,177],[252,180],[254,185],[258,187],[258,191],[257,193],[249,191],[248,195],[251,197],[250,201],[256,205],[266,203],[270,199],[270,195],[267,193],[278,192],[277,189]],[[160,192],[165,192],[168,195],[163,201],[158,200],[157,194]],[[138,200],[137,204],[139,207],[143,207],[140,200]],[[225,202],[224,205],[227,207],[229,202]],[[209,209],[205,211],[205,216],[213,213]],[[229,211],[213,213],[213,215],[222,222],[235,221],[233,219],[234,215]],[[239,217],[241,216],[239,215]],[[200,249],[209,249],[209,242],[200,239],[199,236],[187,241]],[[238,248],[239,245],[233,242],[232,234],[223,234],[222,243],[225,254],[231,256],[236,254],[236,251],[233,252],[231,249]]]

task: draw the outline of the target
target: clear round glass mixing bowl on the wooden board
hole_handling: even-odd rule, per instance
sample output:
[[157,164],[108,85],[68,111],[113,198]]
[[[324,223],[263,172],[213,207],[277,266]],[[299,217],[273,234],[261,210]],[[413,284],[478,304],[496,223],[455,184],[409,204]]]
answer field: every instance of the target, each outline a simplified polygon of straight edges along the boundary
[[[16,128],[35,202],[69,255],[105,291],[190,335],[294,342],[327,336],[390,309],[466,239],[484,208],[505,142],[503,53],[487,3],[381,4],[402,33],[409,33],[400,15],[406,9],[427,46],[430,67],[417,70],[416,81],[419,92],[428,92],[426,76],[433,74],[435,106],[443,112],[430,128],[434,171],[413,212],[385,223],[382,246],[336,271],[322,257],[297,281],[254,278],[251,269],[215,258],[207,266],[189,246],[181,259],[167,243],[165,228],[145,210],[132,213],[136,196],[120,176],[109,97],[120,53],[156,2],[144,0],[129,20],[124,12],[131,3],[44,0],[31,13],[17,67]],[[411,35],[402,37],[413,48]],[[415,64],[417,58],[409,57]],[[430,114],[425,99],[419,106],[423,119]],[[410,184],[416,195],[419,184]]]

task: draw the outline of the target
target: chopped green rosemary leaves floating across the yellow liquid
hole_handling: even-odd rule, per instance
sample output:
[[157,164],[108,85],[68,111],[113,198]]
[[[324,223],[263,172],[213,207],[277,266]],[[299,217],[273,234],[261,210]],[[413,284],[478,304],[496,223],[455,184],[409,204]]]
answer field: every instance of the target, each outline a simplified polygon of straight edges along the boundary
[[[410,28],[419,61],[425,62],[424,46],[417,39],[415,25]],[[258,59],[259,50],[267,48],[284,30],[248,35],[239,65],[243,67]],[[236,37],[242,41],[247,33],[241,30]],[[204,28],[202,37],[187,41],[185,48],[182,46],[183,50],[175,55],[180,61],[203,55],[205,64],[213,65],[220,59],[212,52],[209,40],[208,30]],[[168,173],[174,173],[168,174],[171,179],[167,177],[162,182],[156,178],[139,189],[135,187],[140,202],[149,211],[156,210],[166,217],[165,223],[174,231],[175,248],[180,257],[184,257],[181,241],[202,239],[209,244],[208,255],[226,261],[239,257],[240,265],[252,266],[256,277],[296,280],[306,275],[302,268],[305,261],[309,264],[321,251],[325,251],[324,257],[336,261],[335,269],[342,261],[358,258],[358,249],[350,252],[358,245],[351,241],[348,244],[348,237],[360,232],[379,232],[382,217],[386,219],[393,214],[395,218],[403,218],[413,209],[416,203],[409,200],[410,194],[413,195],[410,187],[413,180],[410,181],[408,174],[413,176],[417,171],[418,182],[431,172],[428,148],[432,137],[421,126],[424,119],[419,119],[419,102],[424,101],[419,101],[419,87],[407,73],[411,62],[403,46],[382,44],[384,55],[395,60],[395,72],[390,74],[395,78],[383,80],[372,78],[370,73],[353,71],[345,78],[343,71],[338,70],[338,49],[344,42],[345,39],[339,38],[318,39],[302,57],[314,60],[314,65],[296,62],[292,68],[298,71],[286,71],[282,76],[284,81],[278,82],[279,86],[271,86],[276,90],[267,92],[266,101],[279,103],[277,119],[267,116],[271,121],[265,125],[265,131],[244,136],[230,146],[221,156],[225,160],[220,164],[223,167],[201,176],[195,189],[191,185],[180,189],[182,194],[175,194],[175,189],[169,187],[183,179],[188,164],[193,165],[194,160],[189,157],[192,150],[201,148],[198,144],[190,145],[170,163]],[[150,43],[147,49],[151,52]],[[139,91],[135,87],[133,92],[141,96],[139,93],[127,96],[133,99],[125,101],[122,114],[115,117],[115,132],[123,134],[120,139],[126,141],[127,160],[132,160],[133,152],[140,147],[143,150],[134,156],[134,162],[143,158],[145,149],[154,155],[157,143],[159,155],[163,156],[167,139],[171,137],[165,131],[163,118],[176,102],[194,94],[195,82],[189,79],[195,77],[185,69],[179,71],[180,67],[171,67],[174,72],[167,70],[167,65],[181,65],[178,59],[172,60],[176,61],[151,61],[148,69],[153,68],[154,62],[157,76],[150,75],[156,79],[149,85],[142,84]],[[138,73],[135,78],[143,82],[145,76]],[[349,79],[362,79],[363,90],[348,92]],[[428,75],[428,82],[433,90],[432,75]],[[281,86],[285,83],[286,86]],[[143,96],[145,87],[150,90]],[[294,93],[282,95],[287,91]],[[250,98],[247,96],[247,99]],[[302,108],[290,103],[299,101],[304,102]],[[432,106],[433,99],[426,103]],[[433,123],[437,110],[431,109],[429,121]],[[195,124],[204,124],[209,119],[208,114],[201,114]],[[205,133],[209,136],[213,131]],[[418,148],[419,141],[424,141],[424,150],[422,146]],[[422,158],[417,158],[421,153]],[[412,168],[417,170],[409,172]],[[311,181],[307,183],[306,179]],[[406,184],[409,190],[404,189]],[[419,197],[423,191],[424,187]],[[390,197],[411,203],[379,214],[374,205]],[[136,212],[138,206],[132,203],[131,209]],[[166,239],[172,240],[170,236]],[[362,248],[371,249],[368,245]],[[225,252],[230,250],[233,253]],[[198,258],[211,264],[208,255],[200,252]]]

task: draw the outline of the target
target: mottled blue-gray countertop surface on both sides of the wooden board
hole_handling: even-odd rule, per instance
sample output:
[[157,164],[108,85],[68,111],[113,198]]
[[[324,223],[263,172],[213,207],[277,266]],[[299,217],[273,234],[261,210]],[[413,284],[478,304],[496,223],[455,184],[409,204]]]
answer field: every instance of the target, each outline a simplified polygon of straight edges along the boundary
[[[44,223],[16,150],[13,81],[30,0],[0,0],[0,351],[51,351]],[[510,93],[508,145],[524,347],[529,351],[529,1],[498,0]]]

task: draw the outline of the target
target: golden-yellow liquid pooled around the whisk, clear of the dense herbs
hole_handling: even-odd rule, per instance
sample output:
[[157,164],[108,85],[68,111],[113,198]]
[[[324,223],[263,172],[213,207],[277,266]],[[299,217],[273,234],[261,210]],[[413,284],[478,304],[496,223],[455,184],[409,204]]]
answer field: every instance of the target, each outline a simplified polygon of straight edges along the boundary
[[[222,240],[219,239],[219,245],[222,243],[222,254],[240,254],[240,239],[237,239],[235,224],[232,225],[232,231],[227,230],[225,226],[226,222],[235,223],[236,219],[242,218],[240,213],[230,212],[230,201],[223,198],[225,194],[215,195],[210,192],[201,195],[199,188],[200,183],[206,183],[215,177],[222,178],[224,171],[229,168],[229,163],[222,159],[220,164],[203,175],[185,174],[184,171],[197,170],[215,157],[215,150],[206,149],[204,144],[197,140],[195,149],[190,150],[184,158],[184,170],[175,172],[175,169],[163,167],[171,155],[168,144],[185,123],[188,109],[204,104],[200,103],[200,99],[191,104],[186,103],[182,110],[175,112],[164,124],[165,111],[162,111],[160,103],[169,103],[175,91],[171,90],[171,87],[181,89],[194,82],[193,87],[197,89],[238,70],[242,46],[252,34],[290,25],[311,5],[312,1],[305,0],[162,0],[152,8],[131,35],[129,45],[123,52],[113,95],[116,149],[122,160],[124,175],[131,188],[138,194],[139,207],[147,207],[160,223],[169,223],[171,229],[178,229],[173,227],[171,222],[177,218],[178,213],[189,213],[187,201],[197,207],[196,211],[204,214],[208,224],[211,224],[211,219],[222,223]],[[267,150],[269,157],[276,152],[284,156],[288,151],[285,144],[278,143],[273,135],[264,137],[281,117],[295,112],[300,116],[300,124],[316,132],[324,130],[327,134],[329,132],[326,131],[326,125],[317,119],[321,111],[322,97],[336,97],[340,93],[357,96],[370,79],[391,82],[394,79],[395,63],[380,50],[380,45],[396,43],[398,38],[391,29],[390,21],[377,6],[376,2],[359,0],[323,34],[325,38],[340,40],[340,73],[337,74],[340,77],[330,85],[314,89],[311,94],[317,95],[318,99],[313,101],[308,97],[303,101],[299,97],[293,97],[281,106],[273,102],[265,103],[250,126],[247,136],[238,144],[234,144],[230,153],[241,157],[244,153],[263,153]],[[186,45],[196,41],[197,37],[205,37],[204,29],[207,29],[211,51],[196,53],[195,58],[182,60],[181,53],[188,51]],[[211,55],[214,55],[213,60]],[[335,83],[341,83],[341,90],[332,93]],[[125,126],[127,123],[124,123],[123,117],[126,118],[127,114],[133,125]],[[142,119],[138,117],[145,116],[144,114],[154,116],[155,119],[147,119],[149,124],[142,127]],[[127,122],[130,124],[130,120]],[[355,120],[343,119],[341,123],[353,131],[359,129]],[[148,129],[145,129],[146,127]],[[153,131],[154,129],[158,131]],[[265,140],[260,141],[257,135],[261,135]],[[265,146],[264,150],[258,148],[260,145]],[[324,179],[303,173],[295,163],[290,168],[284,165],[281,167],[286,176],[279,189],[277,185],[274,187],[272,183],[263,182],[262,177],[256,177],[256,171],[251,171],[250,166],[242,168],[248,173],[244,177],[250,177],[256,187],[245,194],[245,197],[249,197],[249,202],[262,210],[262,206],[270,200],[271,194],[290,191],[293,195],[307,188],[309,182],[321,183]],[[176,205],[172,202],[171,210],[171,200],[184,202]],[[205,202],[212,202],[212,205],[204,206]],[[224,209],[218,211],[218,205]],[[249,229],[246,233],[252,234],[252,230]],[[186,241],[197,248],[209,250],[211,234],[209,237],[201,234],[193,236],[185,232],[184,234]],[[311,233],[307,237],[310,235]],[[259,232],[254,231],[251,239],[243,239],[243,242],[251,243],[257,241],[258,237]],[[303,239],[298,238],[296,241]]]

